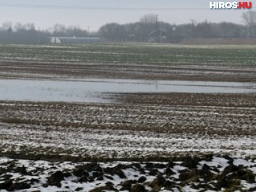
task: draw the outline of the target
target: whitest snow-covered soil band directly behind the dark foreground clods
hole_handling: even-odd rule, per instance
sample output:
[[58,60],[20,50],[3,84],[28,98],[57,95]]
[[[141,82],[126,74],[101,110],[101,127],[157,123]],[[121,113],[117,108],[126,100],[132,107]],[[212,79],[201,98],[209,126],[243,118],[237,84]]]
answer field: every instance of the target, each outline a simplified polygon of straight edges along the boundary
[[0,124],[2,154],[147,159],[204,154],[256,157],[255,136],[113,131],[43,125]]

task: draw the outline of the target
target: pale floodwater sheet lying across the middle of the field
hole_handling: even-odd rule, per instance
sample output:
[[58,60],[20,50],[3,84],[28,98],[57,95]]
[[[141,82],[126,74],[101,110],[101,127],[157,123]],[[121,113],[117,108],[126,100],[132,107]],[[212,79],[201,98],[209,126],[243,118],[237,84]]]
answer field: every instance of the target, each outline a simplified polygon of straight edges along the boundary
[[0,79],[0,100],[109,102],[106,93],[256,93],[256,83],[136,79]]

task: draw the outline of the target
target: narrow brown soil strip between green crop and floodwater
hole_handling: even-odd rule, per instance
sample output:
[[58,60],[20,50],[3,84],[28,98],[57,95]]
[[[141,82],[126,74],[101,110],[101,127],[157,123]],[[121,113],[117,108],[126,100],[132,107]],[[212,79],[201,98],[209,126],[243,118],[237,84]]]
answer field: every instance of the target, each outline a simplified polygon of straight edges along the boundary
[[0,61],[0,78],[113,78],[255,82],[255,65]]

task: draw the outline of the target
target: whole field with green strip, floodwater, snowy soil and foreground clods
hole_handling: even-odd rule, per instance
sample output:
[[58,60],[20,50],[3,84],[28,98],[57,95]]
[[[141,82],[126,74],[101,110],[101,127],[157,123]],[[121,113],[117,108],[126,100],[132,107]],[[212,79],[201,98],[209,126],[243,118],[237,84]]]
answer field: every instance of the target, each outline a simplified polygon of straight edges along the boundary
[[0,190],[255,191],[255,54],[0,45]]

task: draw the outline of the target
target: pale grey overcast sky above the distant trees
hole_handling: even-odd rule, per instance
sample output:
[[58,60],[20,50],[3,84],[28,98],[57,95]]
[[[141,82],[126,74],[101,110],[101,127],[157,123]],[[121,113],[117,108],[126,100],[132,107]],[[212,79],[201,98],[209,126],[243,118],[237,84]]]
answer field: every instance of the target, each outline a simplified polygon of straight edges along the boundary
[[13,24],[30,22],[37,28],[46,29],[60,23],[84,29],[90,26],[91,30],[97,30],[108,22],[124,24],[138,21],[141,16],[148,13],[157,14],[159,20],[171,24],[188,23],[192,19],[197,22],[207,19],[209,22],[242,23],[243,10],[210,10],[210,1],[0,0],[0,24],[9,21]]

